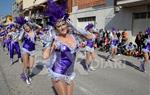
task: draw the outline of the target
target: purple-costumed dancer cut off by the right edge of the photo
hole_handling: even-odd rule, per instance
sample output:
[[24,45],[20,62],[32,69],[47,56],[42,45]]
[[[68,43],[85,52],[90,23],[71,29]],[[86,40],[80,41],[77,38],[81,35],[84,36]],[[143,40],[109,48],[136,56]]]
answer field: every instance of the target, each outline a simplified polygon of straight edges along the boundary
[[[143,51],[143,56],[144,56],[144,61],[140,64],[139,68],[142,72],[145,72],[146,69],[149,67],[149,54],[150,54],[150,28],[147,29],[145,33],[145,41],[144,41],[144,47],[142,49]],[[147,69],[148,70],[148,69]]]

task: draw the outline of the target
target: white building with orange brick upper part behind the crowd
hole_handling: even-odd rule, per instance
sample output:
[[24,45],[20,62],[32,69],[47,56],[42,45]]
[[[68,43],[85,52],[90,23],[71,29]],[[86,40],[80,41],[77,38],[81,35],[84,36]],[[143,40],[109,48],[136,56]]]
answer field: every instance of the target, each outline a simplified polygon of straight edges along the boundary
[[73,0],[71,19],[79,27],[94,23],[98,29],[127,29],[129,40],[150,27],[149,0]]

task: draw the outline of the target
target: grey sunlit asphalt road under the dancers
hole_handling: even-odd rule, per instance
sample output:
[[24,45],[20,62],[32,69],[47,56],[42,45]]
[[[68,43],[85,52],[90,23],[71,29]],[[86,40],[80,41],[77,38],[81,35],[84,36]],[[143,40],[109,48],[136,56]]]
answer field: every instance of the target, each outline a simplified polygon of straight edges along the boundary
[[[74,95],[150,95],[150,70],[140,72],[140,59],[116,56],[116,62],[105,62],[107,53],[96,51],[98,67],[94,72],[83,69],[85,56],[79,52],[75,65]],[[15,59],[17,59],[15,57]],[[20,79],[22,63],[10,64],[9,56],[0,48],[0,95],[55,95],[37,46],[34,77],[31,85]]]

